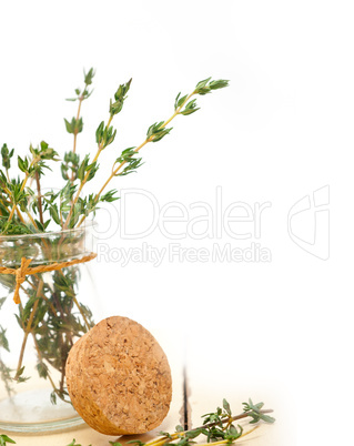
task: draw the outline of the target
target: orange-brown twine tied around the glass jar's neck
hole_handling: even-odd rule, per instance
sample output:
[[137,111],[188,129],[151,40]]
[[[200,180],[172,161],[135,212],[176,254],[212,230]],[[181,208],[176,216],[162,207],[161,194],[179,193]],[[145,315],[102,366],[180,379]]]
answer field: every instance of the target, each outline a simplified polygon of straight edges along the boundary
[[0,266],[0,274],[11,274],[11,275],[16,276],[16,288],[14,288],[14,293],[13,293],[13,301],[16,304],[20,304],[21,303],[20,287],[21,287],[22,283],[26,281],[27,275],[38,274],[38,273],[48,273],[50,271],[59,271],[67,266],[72,266],[72,265],[77,265],[79,263],[90,262],[95,256],[97,256],[95,253],[91,253],[81,259],[73,259],[73,260],[67,261],[67,262],[54,262],[54,263],[50,263],[48,265],[39,265],[39,266],[33,266],[33,267],[29,266],[30,263],[32,262],[31,259],[22,257],[20,267],[10,268],[10,267],[6,267],[6,266]]

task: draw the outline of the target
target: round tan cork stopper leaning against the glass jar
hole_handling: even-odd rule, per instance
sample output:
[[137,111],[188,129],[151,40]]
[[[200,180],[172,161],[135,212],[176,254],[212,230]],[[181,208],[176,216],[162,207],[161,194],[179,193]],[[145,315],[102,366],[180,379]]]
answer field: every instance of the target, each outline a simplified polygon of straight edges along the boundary
[[143,434],[169,412],[168,358],[151,333],[128,317],[108,317],[82,336],[65,373],[74,408],[102,434]]

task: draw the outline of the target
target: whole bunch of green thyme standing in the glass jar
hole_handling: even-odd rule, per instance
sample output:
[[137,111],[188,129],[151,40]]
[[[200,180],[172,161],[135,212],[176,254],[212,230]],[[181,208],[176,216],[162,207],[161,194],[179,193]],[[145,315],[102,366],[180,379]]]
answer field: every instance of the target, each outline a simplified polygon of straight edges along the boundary
[[[99,170],[100,156],[115,142],[117,129],[112,122],[122,111],[132,82],[130,79],[120,84],[110,100],[109,116],[107,121],[100,122],[95,131],[95,153],[81,156],[78,153],[78,135],[84,126],[81,110],[83,101],[92,94],[93,78],[94,70],[91,68],[84,72],[83,88],[75,89],[75,97],[69,99],[78,103],[78,109],[71,120],[64,119],[65,130],[72,134],[73,143],[62,160],[47,142],[41,141],[37,146],[31,144],[28,155],[17,156],[17,165],[22,178],[16,175],[11,178],[14,149],[10,150],[7,144],[1,148],[3,169],[0,169],[0,259],[3,265],[11,267],[19,265],[21,259],[29,257],[31,253],[33,256],[42,253],[42,257],[48,262],[60,260],[58,257],[62,250],[67,256],[70,255],[74,250],[72,246],[80,245],[83,230],[78,233],[71,231],[59,233],[60,235],[52,236],[50,242],[40,234],[79,229],[88,216],[95,214],[100,203],[119,200],[117,190],[107,191],[107,187],[117,176],[135,172],[143,164],[139,155],[141,149],[170,134],[172,128],[168,125],[178,115],[190,115],[200,110],[193,97],[205,95],[229,85],[229,81],[208,78],[199,82],[191,93],[184,95],[179,93],[174,100],[172,115],[150,125],[140,145],[122,150],[103,184],[95,193],[84,195],[87,183],[94,179]],[[59,161],[61,161],[63,186],[43,193],[42,181],[45,180],[45,172]],[[1,241],[6,241],[6,236],[23,234],[31,235],[27,240],[27,246],[18,240],[12,242],[11,250],[1,247]],[[31,266],[36,266],[36,262],[32,262]],[[9,295],[13,292],[14,276],[0,274],[0,283],[8,290]],[[51,273],[33,274],[21,285],[21,292],[26,294],[27,300],[23,304],[19,304],[16,315],[23,331],[23,339],[14,369],[8,367],[1,359],[1,349],[9,351],[11,339],[8,339],[6,328],[0,325],[0,377],[9,394],[12,392],[13,379],[19,383],[28,379],[22,363],[28,339],[32,338],[38,356],[38,374],[48,379],[52,386],[51,401],[55,403],[57,397],[69,401],[64,384],[65,361],[74,338],[82,336],[94,323],[90,308],[77,300],[78,283],[79,268],[70,266]],[[0,307],[6,298],[7,296],[0,297]],[[60,373],[59,382],[54,382],[51,371]]]

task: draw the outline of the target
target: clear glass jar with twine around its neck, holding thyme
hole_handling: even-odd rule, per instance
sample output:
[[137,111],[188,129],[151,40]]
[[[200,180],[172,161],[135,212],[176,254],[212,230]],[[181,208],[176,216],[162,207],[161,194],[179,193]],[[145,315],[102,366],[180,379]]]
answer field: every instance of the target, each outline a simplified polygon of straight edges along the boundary
[[[0,236],[0,430],[51,432],[83,423],[70,403],[65,362],[98,317],[92,241],[92,225]],[[31,263],[19,283],[13,273],[23,259]]]

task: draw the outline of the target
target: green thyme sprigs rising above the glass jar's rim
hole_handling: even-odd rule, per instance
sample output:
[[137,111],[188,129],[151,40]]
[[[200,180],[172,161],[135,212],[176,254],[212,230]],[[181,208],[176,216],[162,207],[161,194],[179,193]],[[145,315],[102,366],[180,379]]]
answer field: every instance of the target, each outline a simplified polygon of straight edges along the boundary
[[[146,131],[145,139],[138,145],[124,149],[115,158],[111,172],[95,193],[82,196],[87,183],[94,179],[99,170],[99,159],[102,152],[117,138],[117,129],[113,128],[113,119],[122,111],[132,80],[122,83],[117,89],[109,103],[108,121],[101,121],[95,131],[97,151],[93,156],[85,154],[82,159],[78,153],[78,135],[83,131],[83,119],[81,116],[82,102],[90,98],[93,90],[89,87],[94,78],[94,70],[91,68],[84,72],[83,89],[75,89],[75,98],[70,101],[78,101],[78,111],[71,121],[64,119],[67,132],[73,135],[72,150],[65,152],[61,162],[61,174],[65,181],[60,192],[41,193],[41,178],[44,170],[51,169],[49,162],[59,161],[58,153],[42,141],[38,148],[30,145],[30,156],[18,156],[18,168],[24,174],[23,180],[10,180],[9,171],[14,150],[9,150],[7,144],[2,145],[1,158],[4,171],[0,170],[0,235],[14,235],[23,233],[47,232],[53,229],[53,223],[62,230],[80,226],[84,220],[94,214],[100,202],[112,202],[118,200],[117,190],[103,193],[110,182],[117,176],[125,176],[143,164],[142,158],[138,155],[143,146],[150,142],[159,142],[170,134],[172,128],[170,122],[178,115],[190,115],[200,108],[196,104],[195,95],[205,95],[214,90],[229,85],[226,80],[211,80],[208,78],[198,82],[194,90],[189,94],[180,92],[174,100],[174,112],[165,121],[156,121]],[[36,181],[37,192],[28,184],[29,179]]]

